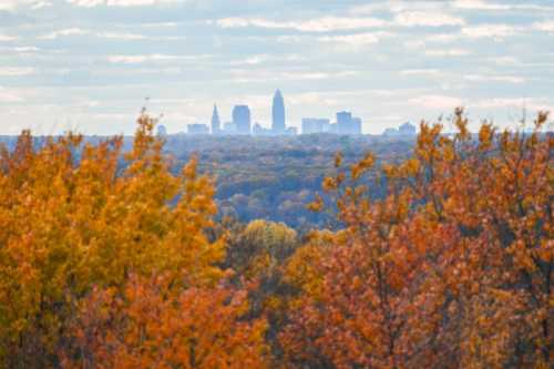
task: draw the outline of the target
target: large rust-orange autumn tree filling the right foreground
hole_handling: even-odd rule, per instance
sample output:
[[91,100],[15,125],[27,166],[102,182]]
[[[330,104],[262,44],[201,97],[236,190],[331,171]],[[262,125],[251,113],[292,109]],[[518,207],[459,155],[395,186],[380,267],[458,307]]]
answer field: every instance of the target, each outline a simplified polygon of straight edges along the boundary
[[[553,137],[421,124],[414,154],[363,185],[368,155],[324,182],[343,228],[293,256],[302,294],[280,341],[320,367],[550,367],[553,363]],[[312,209],[325,207],[319,197]],[[316,237],[317,238],[317,237]],[[310,259],[307,254],[315,253]],[[315,280],[310,280],[315,279]]]

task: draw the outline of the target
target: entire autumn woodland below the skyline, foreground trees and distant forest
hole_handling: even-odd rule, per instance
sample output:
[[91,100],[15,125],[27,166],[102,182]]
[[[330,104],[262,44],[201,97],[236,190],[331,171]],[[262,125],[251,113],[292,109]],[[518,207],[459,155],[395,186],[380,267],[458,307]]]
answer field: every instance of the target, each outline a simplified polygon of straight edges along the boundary
[[0,151],[0,367],[554,367],[545,113],[332,155],[155,123]]

